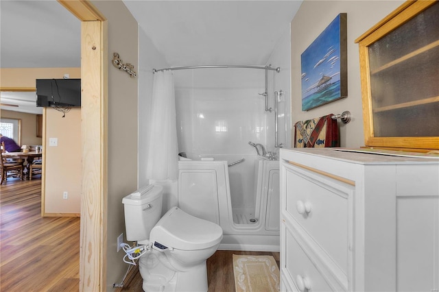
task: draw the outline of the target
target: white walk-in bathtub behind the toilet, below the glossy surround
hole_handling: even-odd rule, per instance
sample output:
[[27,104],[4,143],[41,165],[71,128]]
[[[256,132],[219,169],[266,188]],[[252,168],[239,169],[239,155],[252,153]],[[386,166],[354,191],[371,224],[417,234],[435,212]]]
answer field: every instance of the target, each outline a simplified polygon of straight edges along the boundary
[[178,206],[222,227],[219,250],[278,252],[279,162],[256,155],[198,157],[179,162]]

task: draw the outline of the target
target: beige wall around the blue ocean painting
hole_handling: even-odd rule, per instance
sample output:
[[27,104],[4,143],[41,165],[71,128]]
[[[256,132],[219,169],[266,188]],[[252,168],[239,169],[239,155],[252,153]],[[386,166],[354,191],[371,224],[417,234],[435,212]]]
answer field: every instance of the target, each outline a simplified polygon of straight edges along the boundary
[[[359,76],[359,53],[355,39],[381,21],[404,1],[312,1],[305,0],[291,23],[292,123],[349,110],[352,121],[340,123],[342,147],[364,145],[363,112]],[[347,13],[348,97],[302,112],[300,55],[339,13]]]

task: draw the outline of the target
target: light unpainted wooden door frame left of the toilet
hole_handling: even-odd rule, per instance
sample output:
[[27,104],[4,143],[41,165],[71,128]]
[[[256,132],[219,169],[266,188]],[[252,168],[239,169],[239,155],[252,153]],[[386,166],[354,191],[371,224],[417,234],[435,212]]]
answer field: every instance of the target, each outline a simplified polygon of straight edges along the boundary
[[107,21],[87,0],[58,0],[81,21],[80,291],[106,291]]

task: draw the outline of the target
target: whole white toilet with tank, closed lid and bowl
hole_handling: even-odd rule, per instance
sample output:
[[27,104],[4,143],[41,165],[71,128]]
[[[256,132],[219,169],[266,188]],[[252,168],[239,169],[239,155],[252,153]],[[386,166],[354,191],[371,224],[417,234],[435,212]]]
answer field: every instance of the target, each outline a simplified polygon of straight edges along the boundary
[[123,198],[126,238],[152,243],[139,258],[144,291],[207,291],[206,260],[222,240],[217,224],[178,207],[161,218],[162,186],[148,186]]

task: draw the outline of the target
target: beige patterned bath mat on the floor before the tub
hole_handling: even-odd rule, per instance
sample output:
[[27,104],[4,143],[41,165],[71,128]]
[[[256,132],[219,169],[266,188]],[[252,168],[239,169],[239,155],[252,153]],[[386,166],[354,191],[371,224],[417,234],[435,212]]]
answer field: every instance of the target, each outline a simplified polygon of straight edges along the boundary
[[273,256],[233,255],[236,292],[279,291],[279,268]]

